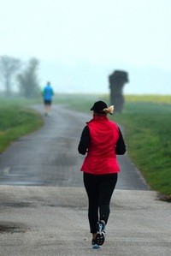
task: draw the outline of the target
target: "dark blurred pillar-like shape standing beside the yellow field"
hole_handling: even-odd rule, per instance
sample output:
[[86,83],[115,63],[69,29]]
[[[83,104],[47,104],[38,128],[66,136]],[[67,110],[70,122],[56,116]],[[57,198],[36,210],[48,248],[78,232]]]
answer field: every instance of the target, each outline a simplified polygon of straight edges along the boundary
[[110,102],[115,107],[115,112],[121,112],[124,106],[123,86],[128,82],[127,72],[115,70],[109,75]]

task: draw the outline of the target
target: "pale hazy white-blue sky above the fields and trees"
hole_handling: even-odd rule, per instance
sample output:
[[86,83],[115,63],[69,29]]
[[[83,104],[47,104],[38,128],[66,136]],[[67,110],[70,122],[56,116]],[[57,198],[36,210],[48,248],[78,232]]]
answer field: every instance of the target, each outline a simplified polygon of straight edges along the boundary
[[171,1],[0,0],[0,56],[40,61],[56,92],[109,92],[125,70],[125,93],[171,94]]

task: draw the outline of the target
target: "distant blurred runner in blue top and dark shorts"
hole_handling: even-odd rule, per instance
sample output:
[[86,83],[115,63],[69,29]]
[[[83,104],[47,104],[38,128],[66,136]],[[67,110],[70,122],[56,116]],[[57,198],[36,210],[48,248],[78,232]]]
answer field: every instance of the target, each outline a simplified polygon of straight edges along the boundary
[[54,91],[52,86],[50,85],[50,81],[48,81],[46,86],[44,86],[42,95],[44,98],[44,114],[45,116],[50,116],[52,98],[54,96]]

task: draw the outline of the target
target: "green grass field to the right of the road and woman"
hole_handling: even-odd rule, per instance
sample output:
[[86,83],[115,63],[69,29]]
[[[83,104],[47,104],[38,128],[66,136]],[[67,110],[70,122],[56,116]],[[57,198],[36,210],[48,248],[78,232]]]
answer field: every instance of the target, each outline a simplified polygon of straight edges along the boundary
[[171,194],[171,105],[127,102],[114,119],[125,128],[127,152],[150,188]]

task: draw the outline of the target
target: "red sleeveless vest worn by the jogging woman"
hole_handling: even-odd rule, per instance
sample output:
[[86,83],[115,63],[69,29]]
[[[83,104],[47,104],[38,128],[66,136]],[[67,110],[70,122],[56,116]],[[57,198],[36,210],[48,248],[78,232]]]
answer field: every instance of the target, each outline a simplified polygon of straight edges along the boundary
[[90,131],[90,145],[81,171],[94,175],[117,173],[120,171],[115,155],[115,144],[119,129],[107,116],[94,116],[87,122]]

